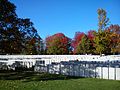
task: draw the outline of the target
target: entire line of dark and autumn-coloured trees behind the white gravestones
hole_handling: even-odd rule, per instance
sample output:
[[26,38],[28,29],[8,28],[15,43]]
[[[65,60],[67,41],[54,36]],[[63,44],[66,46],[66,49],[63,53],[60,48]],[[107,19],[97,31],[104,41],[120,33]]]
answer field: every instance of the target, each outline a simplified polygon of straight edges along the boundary
[[120,26],[109,23],[98,9],[98,30],[76,32],[74,39],[56,33],[42,40],[28,18],[19,18],[16,6],[0,0],[0,54],[120,54]]

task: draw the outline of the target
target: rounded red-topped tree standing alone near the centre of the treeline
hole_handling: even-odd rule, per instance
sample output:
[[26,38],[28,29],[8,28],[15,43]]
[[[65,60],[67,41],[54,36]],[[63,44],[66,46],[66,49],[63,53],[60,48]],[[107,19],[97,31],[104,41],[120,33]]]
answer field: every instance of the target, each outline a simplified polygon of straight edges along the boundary
[[69,54],[70,52],[70,39],[63,33],[57,33],[46,38],[47,54]]

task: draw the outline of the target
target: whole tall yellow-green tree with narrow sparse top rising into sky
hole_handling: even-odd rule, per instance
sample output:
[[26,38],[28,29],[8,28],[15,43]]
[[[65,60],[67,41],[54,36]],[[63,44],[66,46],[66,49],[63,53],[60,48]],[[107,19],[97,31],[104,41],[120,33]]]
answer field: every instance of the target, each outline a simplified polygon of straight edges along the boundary
[[95,48],[97,54],[106,53],[109,50],[108,45],[110,40],[108,38],[109,33],[105,32],[106,26],[108,25],[109,19],[104,9],[98,9],[98,32],[95,32]]

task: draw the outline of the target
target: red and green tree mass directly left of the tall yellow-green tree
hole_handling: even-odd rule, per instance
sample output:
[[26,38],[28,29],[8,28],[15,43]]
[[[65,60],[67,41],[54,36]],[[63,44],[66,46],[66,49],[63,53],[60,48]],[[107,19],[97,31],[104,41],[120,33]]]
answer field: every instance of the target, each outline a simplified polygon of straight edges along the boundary
[[93,54],[94,53],[94,42],[92,30],[88,31],[87,34],[77,32],[72,42],[74,48],[74,54]]

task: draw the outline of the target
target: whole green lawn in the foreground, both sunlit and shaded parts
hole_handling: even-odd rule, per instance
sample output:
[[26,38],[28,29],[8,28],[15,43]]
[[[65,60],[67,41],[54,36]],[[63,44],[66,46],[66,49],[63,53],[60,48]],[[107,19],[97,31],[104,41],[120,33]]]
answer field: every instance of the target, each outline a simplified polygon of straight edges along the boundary
[[120,90],[120,81],[41,73],[1,73],[0,90]]

